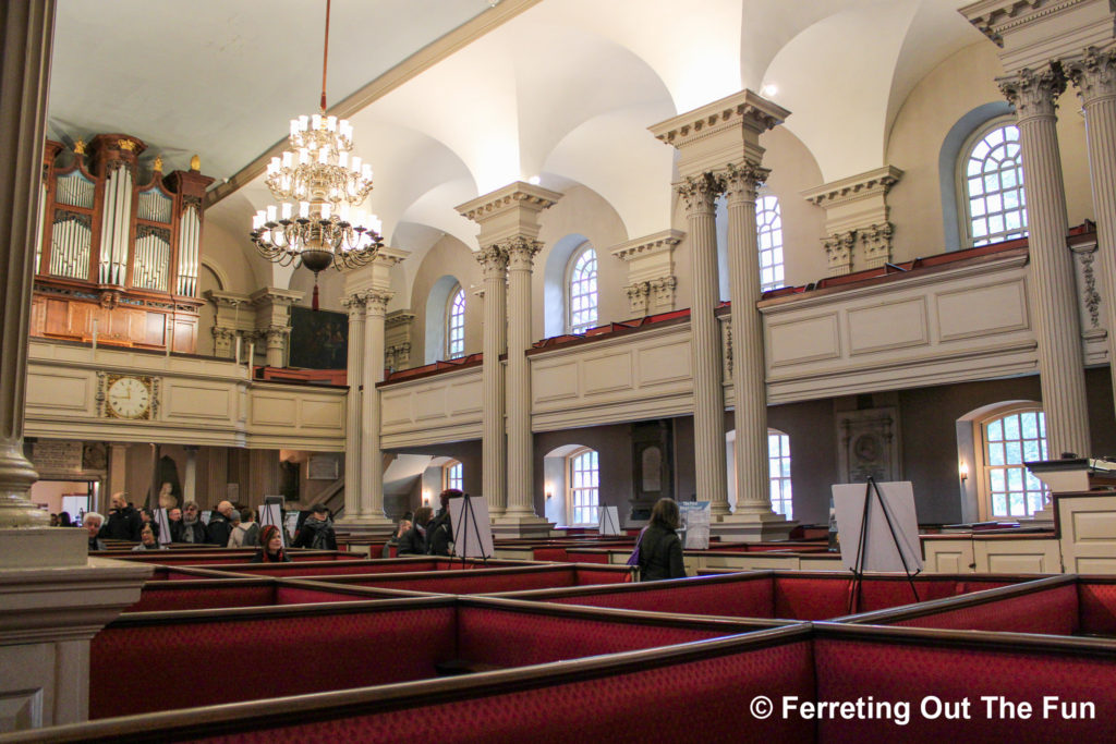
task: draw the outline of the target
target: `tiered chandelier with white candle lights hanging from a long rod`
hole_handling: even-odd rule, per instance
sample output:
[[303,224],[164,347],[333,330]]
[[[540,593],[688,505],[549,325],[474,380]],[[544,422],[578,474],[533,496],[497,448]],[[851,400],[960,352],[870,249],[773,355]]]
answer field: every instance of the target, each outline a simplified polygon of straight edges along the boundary
[[[314,272],[314,309],[318,309],[318,273],[362,267],[383,248],[382,224],[360,205],[372,192],[372,166],[353,149],[353,127],[326,116],[326,62],[329,57],[329,0],[321,61],[321,113],[290,122],[290,147],[268,164],[267,183],[279,206],[252,218],[252,242],[269,261],[298,261]],[[297,204],[297,206],[296,206]],[[296,213],[297,209],[297,213]]]

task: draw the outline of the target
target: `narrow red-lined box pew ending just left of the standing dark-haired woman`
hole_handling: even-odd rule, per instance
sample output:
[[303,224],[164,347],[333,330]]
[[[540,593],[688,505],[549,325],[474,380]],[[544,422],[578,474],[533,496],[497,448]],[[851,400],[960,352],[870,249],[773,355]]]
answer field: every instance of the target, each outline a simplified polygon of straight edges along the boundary
[[542,563],[513,568],[477,568],[468,571],[419,571],[371,576],[334,574],[306,578],[324,583],[449,595],[479,595],[586,584],[616,584],[631,577],[632,569],[626,566]]

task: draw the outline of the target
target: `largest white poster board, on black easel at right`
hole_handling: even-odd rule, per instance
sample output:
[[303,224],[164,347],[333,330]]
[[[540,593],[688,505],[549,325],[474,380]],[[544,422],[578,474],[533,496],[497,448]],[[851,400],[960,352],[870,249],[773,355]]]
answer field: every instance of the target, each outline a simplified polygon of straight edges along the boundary
[[[918,518],[914,509],[914,486],[910,481],[877,483],[876,486],[879,489],[879,497],[872,492],[868,504],[868,532],[862,558],[864,570],[903,571],[905,559],[907,571],[921,571],[922,549],[918,542]],[[869,495],[868,485],[834,484],[833,494],[834,514],[840,534],[840,560],[852,571],[856,567],[856,551],[860,544],[860,526],[865,521],[864,497]],[[887,526],[888,515],[892,529],[895,530],[894,538]]]

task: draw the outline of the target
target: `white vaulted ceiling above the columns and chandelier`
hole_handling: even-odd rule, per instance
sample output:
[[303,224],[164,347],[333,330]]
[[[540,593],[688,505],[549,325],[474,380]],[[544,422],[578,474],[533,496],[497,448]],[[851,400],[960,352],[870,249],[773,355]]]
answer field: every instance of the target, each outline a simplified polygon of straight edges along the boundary
[[[453,207],[535,176],[593,190],[638,238],[671,215],[673,152],[647,127],[742,88],[791,112],[825,181],[885,165],[913,86],[983,40],[963,4],[335,0],[329,105],[375,168],[389,244],[421,255],[450,234],[475,249]],[[57,8],[49,136],[133,134],[167,170],[199,153],[218,177],[206,219],[247,235],[269,201],[261,156],[317,105],[325,0]]]

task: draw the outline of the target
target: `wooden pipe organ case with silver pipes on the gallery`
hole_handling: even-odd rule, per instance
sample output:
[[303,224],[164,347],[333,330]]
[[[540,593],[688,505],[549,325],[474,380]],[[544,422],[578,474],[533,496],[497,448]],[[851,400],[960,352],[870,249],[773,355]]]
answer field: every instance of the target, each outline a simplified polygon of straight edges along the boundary
[[32,336],[196,351],[202,200],[213,178],[196,156],[165,176],[156,158],[140,184],[145,148],[123,134],[98,135],[88,154],[47,141]]

